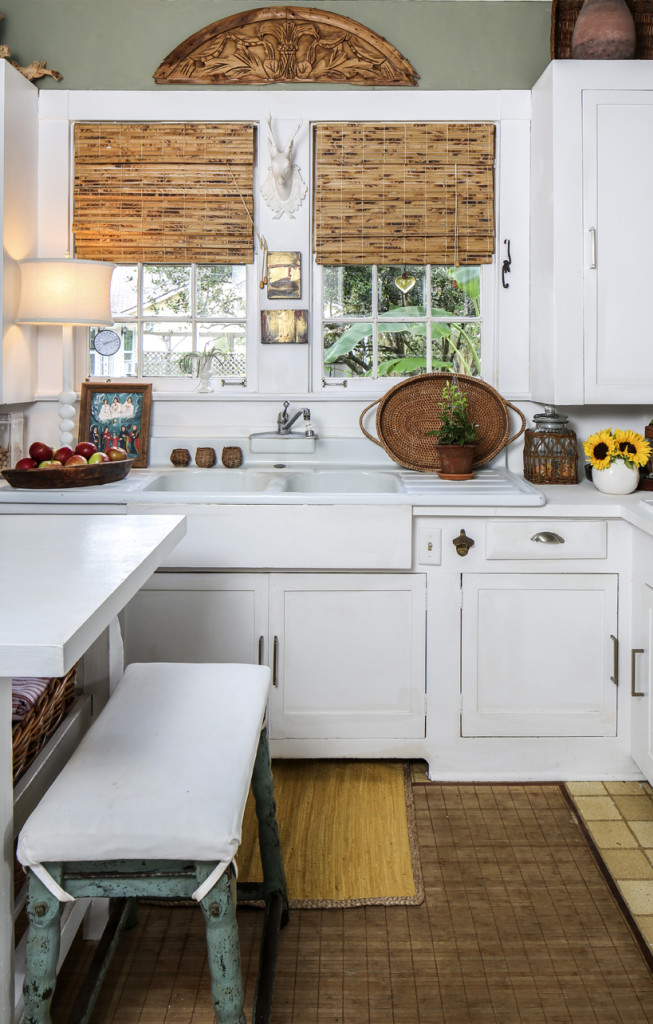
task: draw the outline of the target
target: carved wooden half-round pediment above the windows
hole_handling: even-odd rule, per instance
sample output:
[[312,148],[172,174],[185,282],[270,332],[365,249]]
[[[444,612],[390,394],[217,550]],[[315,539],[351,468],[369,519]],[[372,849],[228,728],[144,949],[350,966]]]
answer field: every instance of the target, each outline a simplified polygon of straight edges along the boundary
[[176,85],[388,86],[416,85],[418,75],[394,46],[350,17],[312,7],[260,7],[189,36],[154,79]]

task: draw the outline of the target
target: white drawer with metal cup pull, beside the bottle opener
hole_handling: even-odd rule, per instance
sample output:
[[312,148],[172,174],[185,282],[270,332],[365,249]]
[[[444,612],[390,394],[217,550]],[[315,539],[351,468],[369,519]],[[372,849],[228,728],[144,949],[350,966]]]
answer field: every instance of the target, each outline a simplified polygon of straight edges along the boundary
[[605,558],[607,523],[578,519],[528,519],[488,522],[486,558]]

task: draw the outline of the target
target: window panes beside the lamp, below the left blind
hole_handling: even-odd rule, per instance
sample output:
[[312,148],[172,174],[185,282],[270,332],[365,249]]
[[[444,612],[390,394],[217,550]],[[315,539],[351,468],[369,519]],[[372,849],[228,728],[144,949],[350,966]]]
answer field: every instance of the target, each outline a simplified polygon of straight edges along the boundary
[[99,355],[89,332],[89,373],[102,377],[184,377],[180,357],[213,353],[212,374],[246,376],[246,267],[123,264],[112,279],[114,329],[122,345]]

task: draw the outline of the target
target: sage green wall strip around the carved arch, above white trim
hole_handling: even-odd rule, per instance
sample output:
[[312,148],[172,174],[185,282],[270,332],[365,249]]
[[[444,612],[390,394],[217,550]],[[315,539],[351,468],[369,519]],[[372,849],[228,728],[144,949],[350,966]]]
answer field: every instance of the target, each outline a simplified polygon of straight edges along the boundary
[[[281,0],[274,6],[284,5]],[[546,0],[298,0],[296,5],[333,10],[378,32],[410,61],[422,89],[529,89],[549,63]],[[256,0],[2,0],[0,42],[23,65],[46,60],[61,72],[60,83],[39,79],[43,89],[179,88],[155,85],[151,76],[163,58],[212,22],[261,6]]]

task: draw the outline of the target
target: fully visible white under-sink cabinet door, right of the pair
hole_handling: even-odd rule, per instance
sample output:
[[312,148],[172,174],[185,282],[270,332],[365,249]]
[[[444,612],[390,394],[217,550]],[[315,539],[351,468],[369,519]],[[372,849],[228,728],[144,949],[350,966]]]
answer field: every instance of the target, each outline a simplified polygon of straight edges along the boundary
[[270,636],[272,738],[424,736],[425,575],[274,575]]

